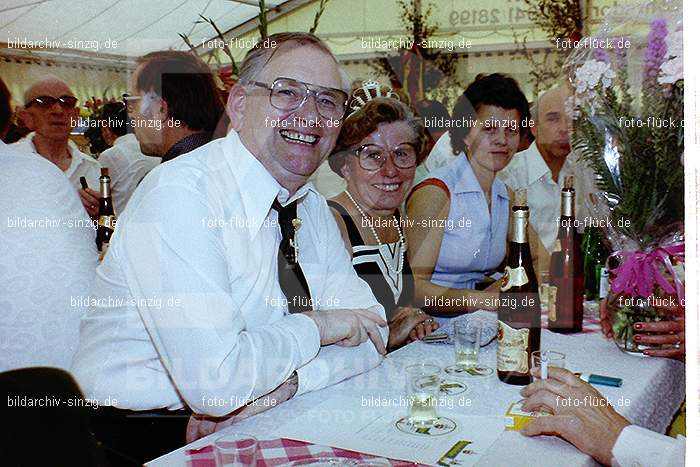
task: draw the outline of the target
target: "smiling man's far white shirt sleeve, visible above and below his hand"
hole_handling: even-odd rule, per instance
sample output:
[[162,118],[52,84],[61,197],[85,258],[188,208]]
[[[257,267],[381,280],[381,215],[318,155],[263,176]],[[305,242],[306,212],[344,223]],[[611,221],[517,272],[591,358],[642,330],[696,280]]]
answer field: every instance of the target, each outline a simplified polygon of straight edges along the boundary
[[[327,207],[324,208],[328,210]],[[330,211],[324,212],[324,215],[328,273],[323,303],[337,304],[334,308],[338,309],[368,309],[386,319],[384,307],[374,298],[367,283],[355,273],[350,255]],[[333,313],[333,310],[328,309],[320,313]],[[386,345],[389,328],[379,327],[379,331]],[[369,371],[379,365],[383,358],[370,340],[356,347],[324,346],[316,358],[297,370],[299,382],[296,394],[323,389]]]

